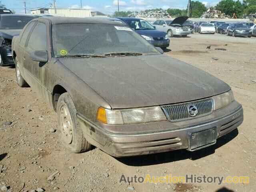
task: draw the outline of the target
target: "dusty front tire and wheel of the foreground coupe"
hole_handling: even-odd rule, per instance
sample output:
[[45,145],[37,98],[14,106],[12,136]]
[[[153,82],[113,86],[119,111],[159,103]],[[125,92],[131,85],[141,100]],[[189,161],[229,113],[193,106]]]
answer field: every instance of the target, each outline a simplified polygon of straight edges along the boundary
[[76,107],[68,93],[60,96],[57,103],[59,137],[62,144],[74,153],[90,150],[92,145],[84,138],[76,116]]

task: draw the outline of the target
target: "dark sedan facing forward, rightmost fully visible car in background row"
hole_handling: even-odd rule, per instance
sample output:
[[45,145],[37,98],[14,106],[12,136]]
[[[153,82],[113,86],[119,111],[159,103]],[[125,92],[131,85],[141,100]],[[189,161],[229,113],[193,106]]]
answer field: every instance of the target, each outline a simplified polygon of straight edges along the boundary
[[252,36],[252,30],[246,25],[246,23],[234,23],[228,27],[227,35],[237,36]]

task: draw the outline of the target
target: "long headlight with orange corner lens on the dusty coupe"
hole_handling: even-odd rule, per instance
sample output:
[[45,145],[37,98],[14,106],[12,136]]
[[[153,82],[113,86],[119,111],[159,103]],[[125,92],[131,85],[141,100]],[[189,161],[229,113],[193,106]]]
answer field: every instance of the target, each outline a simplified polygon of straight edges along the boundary
[[166,120],[160,106],[110,110],[100,107],[97,120],[105,124],[131,124]]

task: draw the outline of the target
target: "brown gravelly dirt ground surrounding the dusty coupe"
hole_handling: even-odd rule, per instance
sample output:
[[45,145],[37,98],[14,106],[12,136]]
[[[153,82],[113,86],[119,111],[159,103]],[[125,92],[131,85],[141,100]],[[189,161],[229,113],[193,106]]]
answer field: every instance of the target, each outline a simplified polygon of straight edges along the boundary
[[[9,192],[37,188],[46,192],[254,192],[256,82],[252,80],[256,80],[256,38],[192,34],[172,38],[165,54],[230,84],[244,108],[244,122],[238,130],[196,152],[178,150],[119,159],[97,148],[72,154],[58,142],[58,132],[53,132],[57,127],[55,112],[31,88],[16,85],[14,68],[1,67],[0,190],[6,186]],[[122,174],[249,176],[250,184],[127,184],[119,183]]]

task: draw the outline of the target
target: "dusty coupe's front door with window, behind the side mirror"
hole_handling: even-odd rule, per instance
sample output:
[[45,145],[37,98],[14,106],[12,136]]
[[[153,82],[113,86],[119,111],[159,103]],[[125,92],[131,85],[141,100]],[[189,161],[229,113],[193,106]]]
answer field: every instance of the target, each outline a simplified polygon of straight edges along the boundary
[[44,22],[37,22],[34,26],[33,31],[28,39],[25,49],[25,60],[24,66],[27,76],[26,80],[30,86],[32,86],[38,93],[45,94],[47,91],[47,62],[38,62],[30,58],[30,54],[34,51],[48,51],[48,37],[47,27]]

